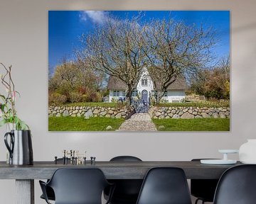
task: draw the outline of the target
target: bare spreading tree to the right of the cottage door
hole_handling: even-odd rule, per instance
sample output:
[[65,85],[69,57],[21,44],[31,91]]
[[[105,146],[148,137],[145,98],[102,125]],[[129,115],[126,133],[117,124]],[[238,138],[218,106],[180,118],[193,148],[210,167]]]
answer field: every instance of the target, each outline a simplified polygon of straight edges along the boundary
[[160,84],[157,102],[178,77],[188,77],[205,68],[213,55],[215,32],[203,26],[187,26],[182,22],[155,20],[144,26],[144,53],[151,69],[149,74]]

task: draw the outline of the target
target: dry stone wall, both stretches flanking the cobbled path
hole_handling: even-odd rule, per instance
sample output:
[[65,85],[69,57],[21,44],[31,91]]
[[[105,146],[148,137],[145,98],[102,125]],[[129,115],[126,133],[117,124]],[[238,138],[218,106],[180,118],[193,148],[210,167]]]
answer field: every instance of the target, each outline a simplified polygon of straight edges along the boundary
[[[50,117],[106,117],[106,118],[129,118],[134,111],[127,108],[105,108],[105,107],[85,107],[85,106],[49,106],[48,115]],[[230,108],[195,108],[195,107],[151,107],[149,108],[151,118],[230,118]]]

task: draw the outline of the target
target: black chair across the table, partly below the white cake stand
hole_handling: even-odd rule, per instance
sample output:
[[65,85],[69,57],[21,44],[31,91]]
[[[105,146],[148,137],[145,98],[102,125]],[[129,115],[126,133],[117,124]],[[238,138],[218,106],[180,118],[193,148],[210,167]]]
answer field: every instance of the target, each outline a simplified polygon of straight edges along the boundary
[[[200,162],[201,159],[192,159],[192,162]],[[218,179],[191,179],[191,196],[196,197],[195,204],[199,200],[202,204],[213,202],[214,193],[218,184]]]

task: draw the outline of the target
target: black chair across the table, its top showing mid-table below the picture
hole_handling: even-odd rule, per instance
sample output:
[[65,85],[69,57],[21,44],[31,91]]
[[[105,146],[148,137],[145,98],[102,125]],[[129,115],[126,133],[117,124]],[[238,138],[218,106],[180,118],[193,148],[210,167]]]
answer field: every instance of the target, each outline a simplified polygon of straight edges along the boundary
[[[133,156],[118,156],[110,159],[110,162],[142,162],[142,159]],[[114,183],[114,193],[111,204],[135,204],[142,187],[142,179],[112,179]],[[105,190],[105,198],[109,196],[109,189]]]

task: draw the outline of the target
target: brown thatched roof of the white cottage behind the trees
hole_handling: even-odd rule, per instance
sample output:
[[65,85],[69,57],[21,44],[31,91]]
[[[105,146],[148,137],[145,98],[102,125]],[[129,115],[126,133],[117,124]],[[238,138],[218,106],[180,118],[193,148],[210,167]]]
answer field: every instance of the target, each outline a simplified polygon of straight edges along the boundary
[[[159,81],[156,81],[156,87],[154,87],[155,90],[160,90],[160,83]],[[118,79],[117,77],[110,76],[109,81],[107,83],[107,89],[108,90],[125,90],[127,85],[122,81],[121,79]],[[172,83],[167,90],[185,90],[187,88],[186,79],[185,77],[181,76]]]

